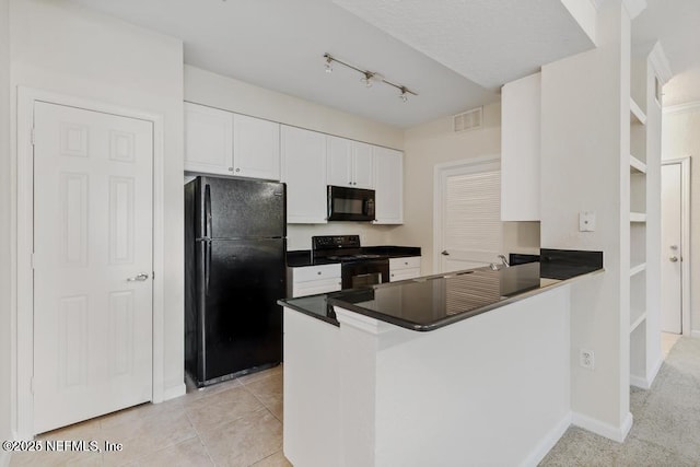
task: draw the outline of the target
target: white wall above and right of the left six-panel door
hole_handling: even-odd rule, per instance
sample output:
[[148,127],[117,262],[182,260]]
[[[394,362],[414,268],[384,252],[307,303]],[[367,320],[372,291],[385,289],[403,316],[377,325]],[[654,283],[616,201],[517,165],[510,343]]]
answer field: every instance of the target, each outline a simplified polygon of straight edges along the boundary
[[[184,388],[183,46],[68,2],[11,1],[13,102],[16,86],[79,96],[163,118],[165,212],[163,380]],[[13,115],[16,109],[13,110]],[[1,184],[4,186],[4,184]]]

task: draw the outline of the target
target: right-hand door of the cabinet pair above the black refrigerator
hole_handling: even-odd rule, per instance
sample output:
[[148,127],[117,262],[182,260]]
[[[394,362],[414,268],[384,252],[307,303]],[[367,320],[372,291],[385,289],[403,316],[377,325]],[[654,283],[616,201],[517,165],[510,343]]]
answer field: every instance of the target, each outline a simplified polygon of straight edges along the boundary
[[233,175],[280,179],[280,124],[234,114]]

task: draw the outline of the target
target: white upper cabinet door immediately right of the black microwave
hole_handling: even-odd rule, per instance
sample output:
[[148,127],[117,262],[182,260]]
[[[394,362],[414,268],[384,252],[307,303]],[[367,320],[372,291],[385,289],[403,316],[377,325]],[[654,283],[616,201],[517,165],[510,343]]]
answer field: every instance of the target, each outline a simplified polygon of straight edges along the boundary
[[374,148],[376,224],[404,223],[404,153]]

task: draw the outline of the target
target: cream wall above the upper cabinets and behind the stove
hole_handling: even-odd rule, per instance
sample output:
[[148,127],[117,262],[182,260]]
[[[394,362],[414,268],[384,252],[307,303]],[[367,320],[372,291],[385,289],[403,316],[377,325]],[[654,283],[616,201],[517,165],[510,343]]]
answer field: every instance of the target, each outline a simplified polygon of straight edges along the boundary
[[[402,149],[404,131],[330,107],[185,66],[185,100],[387,148]],[[394,227],[359,222],[288,227],[288,249],[311,248],[313,235],[359,234],[362,245],[384,245]],[[420,244],[410,246],[421,246]]]

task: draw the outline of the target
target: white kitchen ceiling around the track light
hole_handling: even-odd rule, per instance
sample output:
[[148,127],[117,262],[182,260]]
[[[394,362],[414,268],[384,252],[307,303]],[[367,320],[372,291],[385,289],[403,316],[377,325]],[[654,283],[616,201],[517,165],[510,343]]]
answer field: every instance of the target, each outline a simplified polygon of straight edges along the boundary
[[[592,47],[561,0],[72,1],[183,39],[186,63],[402,128],[495,102],[502,83]],[[644,34],[678,35],[656,20],[679,14],[689,31],[698,24],[666,12],[668,0],[649,3],[663,14],[635,20]],[[677,3],[698,10],[700,1]],[[676,48],[688,56],[698,50],[692,40],[692,48],[676,47],[662,37],[674,71]],[[325,52],[419,95],[402,103],[396,89],[365,89],[345,67],[325,73]]]

